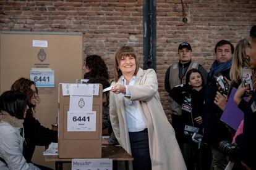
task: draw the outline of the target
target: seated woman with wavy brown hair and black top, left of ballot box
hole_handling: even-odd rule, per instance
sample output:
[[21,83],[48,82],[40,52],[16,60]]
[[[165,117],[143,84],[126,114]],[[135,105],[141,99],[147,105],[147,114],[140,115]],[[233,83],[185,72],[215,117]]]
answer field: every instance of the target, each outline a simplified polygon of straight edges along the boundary
[[[19,78],[12,84],[11,90],[20,91],[27,96],[28,110],[23,123],[25,131],[23,155],[27,163],[31,163],[35,146],[48,146],[51,142],[58,142],[58,132],[41,126],[40,122],[33,116],[36,104],[40,101],[35,82],[27,78]],[[36,164],[36,166],[40,165]],[[40,169],[49,168],[40,166]]]

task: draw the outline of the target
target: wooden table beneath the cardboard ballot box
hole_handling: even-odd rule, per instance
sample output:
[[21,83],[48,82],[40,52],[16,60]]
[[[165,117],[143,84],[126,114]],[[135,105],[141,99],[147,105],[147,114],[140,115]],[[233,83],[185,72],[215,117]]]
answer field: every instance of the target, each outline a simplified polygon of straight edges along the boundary
[[[62,169],[63,163],[71,163],[71,158],[59,158],[58,155],[46,155],[45,161],[55,161],[55,169]],[[126,152],[122,147],[116,145],[102,145],[102,155],[101,158],[109,158],[113,160],[113,165],[116,161],[125,161],[126,169],[128,167],[128,161],[134,160],[129,153]],[[114,167],[113,167],[114,168]]]

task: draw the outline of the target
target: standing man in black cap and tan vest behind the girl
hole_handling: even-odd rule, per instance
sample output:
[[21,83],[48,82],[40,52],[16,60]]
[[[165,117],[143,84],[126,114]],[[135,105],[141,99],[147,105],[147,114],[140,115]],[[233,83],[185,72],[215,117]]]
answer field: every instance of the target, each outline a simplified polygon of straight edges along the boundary
[[[164,79],[165,90],[169,93],[171,89],[179,84],[186,84],[186,73],[191,68],[196,68],[202,73],[203,80],[207,82],[207,71],[197,62],[192,62],[192,48],[189,43],[182,42],[178,48],[179,62],[171,65],[166,71]],[[182,134],[184,129],[182,126],[181,106],[170,98],[172,125],[176,133],[176,139],[179,147],[182,146]],[[181,148],[182,150],[182,148]]]

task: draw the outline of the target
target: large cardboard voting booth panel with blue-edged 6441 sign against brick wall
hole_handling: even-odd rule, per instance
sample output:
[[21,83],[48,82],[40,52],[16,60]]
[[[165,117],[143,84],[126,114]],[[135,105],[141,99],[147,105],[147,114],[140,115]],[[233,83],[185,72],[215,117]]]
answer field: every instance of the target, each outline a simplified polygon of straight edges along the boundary
[[[51,129],[58,116],[58,84],[83,78],[83,33],[0,31],[0,92],[24,77],[35,81],[40,103],[33,115]],[[41,74],[41,75],[39,75]],[[36,146],[32,162],[54,169]]]

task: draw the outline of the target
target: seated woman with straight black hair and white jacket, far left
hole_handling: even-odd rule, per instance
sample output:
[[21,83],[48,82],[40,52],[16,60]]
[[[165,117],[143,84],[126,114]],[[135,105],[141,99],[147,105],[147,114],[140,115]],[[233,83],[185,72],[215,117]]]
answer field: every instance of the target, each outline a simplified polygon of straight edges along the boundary
[[22,155],[26,96],[6,91],[0,96],[0,169],[39,169]]

